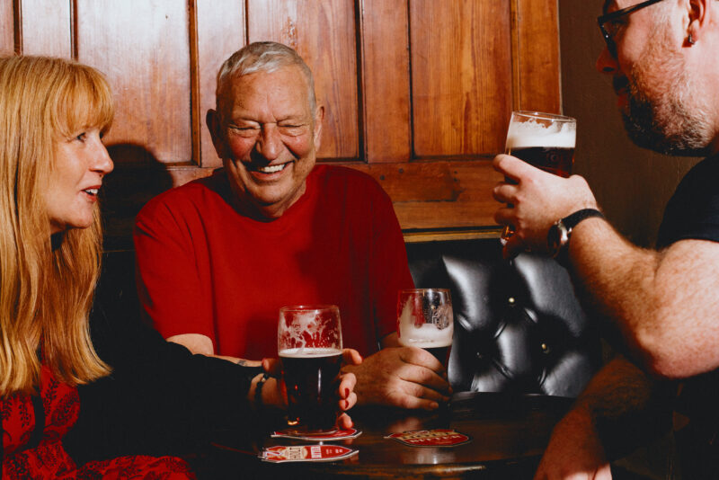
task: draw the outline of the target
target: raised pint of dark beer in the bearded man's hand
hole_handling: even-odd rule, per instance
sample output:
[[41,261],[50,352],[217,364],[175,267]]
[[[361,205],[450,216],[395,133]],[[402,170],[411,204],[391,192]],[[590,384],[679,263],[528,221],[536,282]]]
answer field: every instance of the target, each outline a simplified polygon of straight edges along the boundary
[[[512,111],[505,153],[561,177],[572,174],[577,120],[540,111]],[[504,227],[502,241],[513,234]]]

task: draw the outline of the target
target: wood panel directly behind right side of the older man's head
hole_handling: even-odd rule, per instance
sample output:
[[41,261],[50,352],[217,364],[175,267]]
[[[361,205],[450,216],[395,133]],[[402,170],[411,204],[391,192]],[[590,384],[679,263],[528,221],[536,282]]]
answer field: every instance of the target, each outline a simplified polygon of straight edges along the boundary
[[248,0],[249,41],[284,43],[305,59],[324,104],[320,158],[359,158],[357,39],[352,0]]

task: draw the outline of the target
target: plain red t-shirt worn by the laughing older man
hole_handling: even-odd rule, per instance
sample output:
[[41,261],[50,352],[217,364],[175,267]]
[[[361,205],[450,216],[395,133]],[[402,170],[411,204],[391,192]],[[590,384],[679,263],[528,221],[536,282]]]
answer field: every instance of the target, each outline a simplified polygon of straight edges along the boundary
[[282,217],[233,209],[226,173],[166,191],[137,218],[142,306],[164,335],[201,333],[215,352],[277,356],[280,307],[340,307],[345,347],[368,355],[395,331],[413,280],[392,202],[365,173],[320,165]]

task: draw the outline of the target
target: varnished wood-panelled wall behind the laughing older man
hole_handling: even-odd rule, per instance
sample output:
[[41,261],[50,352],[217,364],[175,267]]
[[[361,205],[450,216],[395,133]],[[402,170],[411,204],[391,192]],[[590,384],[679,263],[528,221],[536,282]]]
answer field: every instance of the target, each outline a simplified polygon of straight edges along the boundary
[[496,236],[490,162],[510,111],[561,111],[552,0],[0,0],[0,50],[110,80],[110,248],[146,200],[220,165],[204,122],[217,68],[256,40],[306,59],[320,160],[377,178],[408,241]]

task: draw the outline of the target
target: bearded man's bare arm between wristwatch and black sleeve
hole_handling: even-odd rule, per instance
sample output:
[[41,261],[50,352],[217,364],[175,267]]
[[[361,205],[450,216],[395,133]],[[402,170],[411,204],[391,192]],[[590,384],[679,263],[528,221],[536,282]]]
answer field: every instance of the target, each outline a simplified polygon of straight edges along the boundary
[[719,244],[680,240],[662,252],[644,250],[590,218],[573,232],[570,257],[580,287],[645,369],[687,378],[719,367]]

